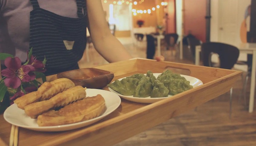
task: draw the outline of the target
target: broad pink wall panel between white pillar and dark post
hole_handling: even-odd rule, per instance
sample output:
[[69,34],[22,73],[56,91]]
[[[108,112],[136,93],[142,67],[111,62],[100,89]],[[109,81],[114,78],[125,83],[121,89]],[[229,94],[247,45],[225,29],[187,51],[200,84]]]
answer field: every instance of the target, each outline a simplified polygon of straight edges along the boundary
[[184,35],[189,31],[201,41],[205,42],[206,33],[206,0],[184,0]]

